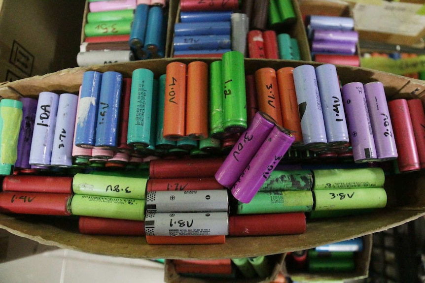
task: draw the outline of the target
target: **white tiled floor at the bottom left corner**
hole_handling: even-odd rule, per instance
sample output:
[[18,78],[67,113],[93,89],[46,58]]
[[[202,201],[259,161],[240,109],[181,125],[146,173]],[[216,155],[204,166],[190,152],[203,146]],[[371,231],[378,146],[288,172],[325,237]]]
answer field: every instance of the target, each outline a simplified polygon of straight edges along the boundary
[[58,249],[0,264],[0,283],[164,283],[164,265],[146,259]]

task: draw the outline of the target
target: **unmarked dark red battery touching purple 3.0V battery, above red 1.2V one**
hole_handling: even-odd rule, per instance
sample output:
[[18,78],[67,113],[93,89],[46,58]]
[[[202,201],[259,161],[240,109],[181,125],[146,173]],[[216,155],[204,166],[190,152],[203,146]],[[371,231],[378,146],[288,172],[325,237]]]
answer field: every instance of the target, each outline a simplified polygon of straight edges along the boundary
[[150,178],[202,178],[214,177],[224,158],[184,158],[151,160]]

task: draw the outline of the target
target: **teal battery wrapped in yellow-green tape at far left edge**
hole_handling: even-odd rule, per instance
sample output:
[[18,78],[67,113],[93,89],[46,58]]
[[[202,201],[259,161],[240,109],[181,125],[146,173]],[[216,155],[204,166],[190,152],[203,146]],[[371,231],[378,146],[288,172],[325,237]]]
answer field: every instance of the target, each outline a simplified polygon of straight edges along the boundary
[[22,102],[0,100],[0,175],[13,173],[18,158],[18,137],[22,122]]

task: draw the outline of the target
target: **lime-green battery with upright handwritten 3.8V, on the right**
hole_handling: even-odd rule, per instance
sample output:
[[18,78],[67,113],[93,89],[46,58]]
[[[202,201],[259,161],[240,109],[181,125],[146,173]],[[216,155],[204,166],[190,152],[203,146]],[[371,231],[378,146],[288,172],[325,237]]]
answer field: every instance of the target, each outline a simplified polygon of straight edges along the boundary
[[345,210],[382,208],[387,205],[384,188],[319,189],[315,195],[314,210]]

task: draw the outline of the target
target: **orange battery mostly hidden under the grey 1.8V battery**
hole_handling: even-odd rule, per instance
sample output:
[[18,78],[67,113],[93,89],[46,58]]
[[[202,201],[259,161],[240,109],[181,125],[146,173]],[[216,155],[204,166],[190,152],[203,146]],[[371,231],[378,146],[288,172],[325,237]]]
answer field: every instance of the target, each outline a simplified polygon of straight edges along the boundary
[[146,243],[150,245],[205,245],[225,244],[226,236],[148,236]]

